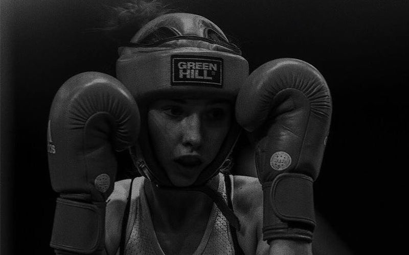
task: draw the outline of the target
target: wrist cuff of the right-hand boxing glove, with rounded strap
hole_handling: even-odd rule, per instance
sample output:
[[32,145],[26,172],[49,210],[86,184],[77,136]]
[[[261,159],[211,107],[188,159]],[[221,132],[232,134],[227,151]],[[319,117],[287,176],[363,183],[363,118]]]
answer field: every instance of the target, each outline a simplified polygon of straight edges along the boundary
[[263,239],[311,242],[315,228],[313,180],[304,174],[282,173],[263,184]]

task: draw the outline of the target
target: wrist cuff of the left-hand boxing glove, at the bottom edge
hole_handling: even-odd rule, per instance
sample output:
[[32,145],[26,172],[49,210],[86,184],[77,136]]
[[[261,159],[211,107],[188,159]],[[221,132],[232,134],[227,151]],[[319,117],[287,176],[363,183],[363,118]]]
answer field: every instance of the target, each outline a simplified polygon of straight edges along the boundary
[[80,254],[104,248],[105,202],[57,198],[50,246]]

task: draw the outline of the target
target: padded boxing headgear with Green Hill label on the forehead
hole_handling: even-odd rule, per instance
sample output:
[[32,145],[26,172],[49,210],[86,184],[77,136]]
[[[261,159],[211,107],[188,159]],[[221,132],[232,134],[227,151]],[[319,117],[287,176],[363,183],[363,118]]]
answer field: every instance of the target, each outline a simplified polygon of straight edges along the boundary
[[[248,63],[210,20],[171,13],[148,22],[125,47],[117,61],[117,78],[141,109],[143,127],[134,161],[153,183],[173,186],[150,146],[147,111],[153,100],[170,97],[221,98],[234,104],[248,77]],[[240,127],[234,121],[216,158],[193,186],[205,184],[233,149]],[[142,153],[141,153],[142,152]]]

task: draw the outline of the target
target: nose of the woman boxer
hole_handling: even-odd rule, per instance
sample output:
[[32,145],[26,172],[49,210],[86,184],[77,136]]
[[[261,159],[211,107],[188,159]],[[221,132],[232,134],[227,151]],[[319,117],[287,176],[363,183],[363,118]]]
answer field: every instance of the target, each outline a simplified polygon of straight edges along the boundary
[[185,146],[197,148],[202,143],[201,120],[199,114],[191,114],[183,120],[183,140]]

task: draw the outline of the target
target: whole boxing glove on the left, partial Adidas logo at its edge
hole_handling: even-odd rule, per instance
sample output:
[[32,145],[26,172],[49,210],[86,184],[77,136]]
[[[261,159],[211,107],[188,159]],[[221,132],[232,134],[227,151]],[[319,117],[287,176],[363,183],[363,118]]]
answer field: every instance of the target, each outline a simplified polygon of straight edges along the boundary
[[48,123],[51,184],[60,193],[50,242],[57,254],[104,253],[115,151],[134,145],[139,129],[137,104],[110,75],[80,73],[58,90]]

